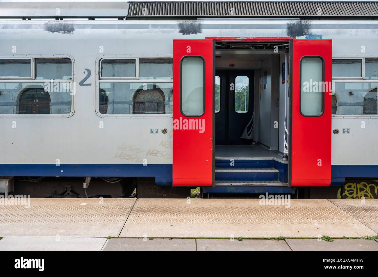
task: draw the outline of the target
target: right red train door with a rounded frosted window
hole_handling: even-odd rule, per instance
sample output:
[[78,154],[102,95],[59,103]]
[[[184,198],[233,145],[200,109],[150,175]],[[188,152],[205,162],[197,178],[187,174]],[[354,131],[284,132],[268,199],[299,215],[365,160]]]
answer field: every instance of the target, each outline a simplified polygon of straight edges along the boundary
[[291,40],[289,185],[330,186],[332,40]]

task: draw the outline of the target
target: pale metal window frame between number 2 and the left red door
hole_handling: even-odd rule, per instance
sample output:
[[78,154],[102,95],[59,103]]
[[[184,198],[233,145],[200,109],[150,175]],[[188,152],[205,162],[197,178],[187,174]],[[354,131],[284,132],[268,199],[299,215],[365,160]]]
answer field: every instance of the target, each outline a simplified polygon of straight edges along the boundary
[[[173,55],[101,55],[96,58],[96,85],[95,85],[95,111],[101,118],[172,118],[173,114],[101,114],[99,110],[100,83],[172,83],[172,79],[139,79],[139,58],[172,58]],[[112,77],[100,78],[100,64],[102,59],[136,59],[136,71],[138,78]],[[173,63],[172,63],[173,66]],[[173,103],[172,103],[173,105]]]

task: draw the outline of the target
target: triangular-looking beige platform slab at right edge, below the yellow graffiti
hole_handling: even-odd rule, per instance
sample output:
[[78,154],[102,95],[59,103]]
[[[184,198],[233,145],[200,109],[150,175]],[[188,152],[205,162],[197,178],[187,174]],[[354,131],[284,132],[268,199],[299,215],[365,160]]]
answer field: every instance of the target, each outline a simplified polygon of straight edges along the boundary
[[330,199],[330,201],[378,233],[378,200]]

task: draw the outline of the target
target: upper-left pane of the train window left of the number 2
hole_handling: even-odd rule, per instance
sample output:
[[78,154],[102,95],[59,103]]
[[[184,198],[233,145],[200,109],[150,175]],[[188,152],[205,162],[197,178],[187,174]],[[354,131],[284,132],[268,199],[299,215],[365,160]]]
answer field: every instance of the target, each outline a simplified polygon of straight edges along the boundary
[[0,78],[31,78],[31,58],[0,59]]

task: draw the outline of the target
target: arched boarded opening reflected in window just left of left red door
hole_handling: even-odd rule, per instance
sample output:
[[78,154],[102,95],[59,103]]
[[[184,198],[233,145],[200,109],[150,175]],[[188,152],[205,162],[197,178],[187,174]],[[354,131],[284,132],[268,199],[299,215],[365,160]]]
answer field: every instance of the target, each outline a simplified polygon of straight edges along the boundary
[[152,89],[137,89],[133,96],[133,114],[165,114],[164,92],[155,84]]

